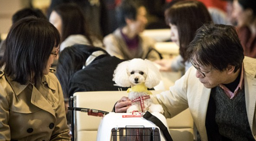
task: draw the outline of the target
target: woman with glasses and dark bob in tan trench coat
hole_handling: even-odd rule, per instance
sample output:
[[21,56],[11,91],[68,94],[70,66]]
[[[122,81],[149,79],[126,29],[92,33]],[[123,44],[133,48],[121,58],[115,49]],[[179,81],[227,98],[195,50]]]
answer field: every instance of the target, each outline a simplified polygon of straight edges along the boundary
[[12,25],[0,70],[0,140],[70,140],[61,85],[49,72],[59,42],[47,20]]

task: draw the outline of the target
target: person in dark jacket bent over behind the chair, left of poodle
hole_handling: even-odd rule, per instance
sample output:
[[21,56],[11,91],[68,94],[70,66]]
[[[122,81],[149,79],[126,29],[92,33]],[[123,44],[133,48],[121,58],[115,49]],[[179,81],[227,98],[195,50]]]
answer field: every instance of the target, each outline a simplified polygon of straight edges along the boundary
[[65,48],[60,53],[56,71],[64,98],[81,91],[127,90],[112,81],[114,69],[123,61],[99,47],[73,45]]

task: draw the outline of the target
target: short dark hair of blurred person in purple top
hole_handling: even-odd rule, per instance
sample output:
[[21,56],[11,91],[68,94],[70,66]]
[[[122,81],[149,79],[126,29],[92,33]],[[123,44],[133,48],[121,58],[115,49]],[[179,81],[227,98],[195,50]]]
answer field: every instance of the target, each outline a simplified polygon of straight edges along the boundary
[[119,27],[126,26],[125,19],[136,20],[138,9],[143,6],[140,0],[123,0],[116,8],[116,18]]

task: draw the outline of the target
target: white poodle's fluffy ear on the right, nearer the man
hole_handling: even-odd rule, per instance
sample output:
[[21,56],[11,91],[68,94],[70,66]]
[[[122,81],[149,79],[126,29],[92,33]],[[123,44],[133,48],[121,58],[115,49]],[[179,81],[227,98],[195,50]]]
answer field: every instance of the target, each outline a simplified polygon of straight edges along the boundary
[[153,64],[153,62],[147,59],[145,59],[144,61],[148,67],[148,74],[145,80],[145,85],[148,88],[153,88],[160,83],[161,74],[159,72],[159,69]]

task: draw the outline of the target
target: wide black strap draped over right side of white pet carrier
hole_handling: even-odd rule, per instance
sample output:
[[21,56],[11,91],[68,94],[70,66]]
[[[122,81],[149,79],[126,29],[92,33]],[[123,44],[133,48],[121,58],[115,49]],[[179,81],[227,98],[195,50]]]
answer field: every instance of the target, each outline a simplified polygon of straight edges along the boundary
[[163,132],[163,135],[165,136],[165,139],[167,141],[173,141],[171,135],[168,132],[167,127],[154,115],[152,115],[149,111],[147,111],[144,115],[143,118],[147,119],[148,121],[151,121],[155,123]]

